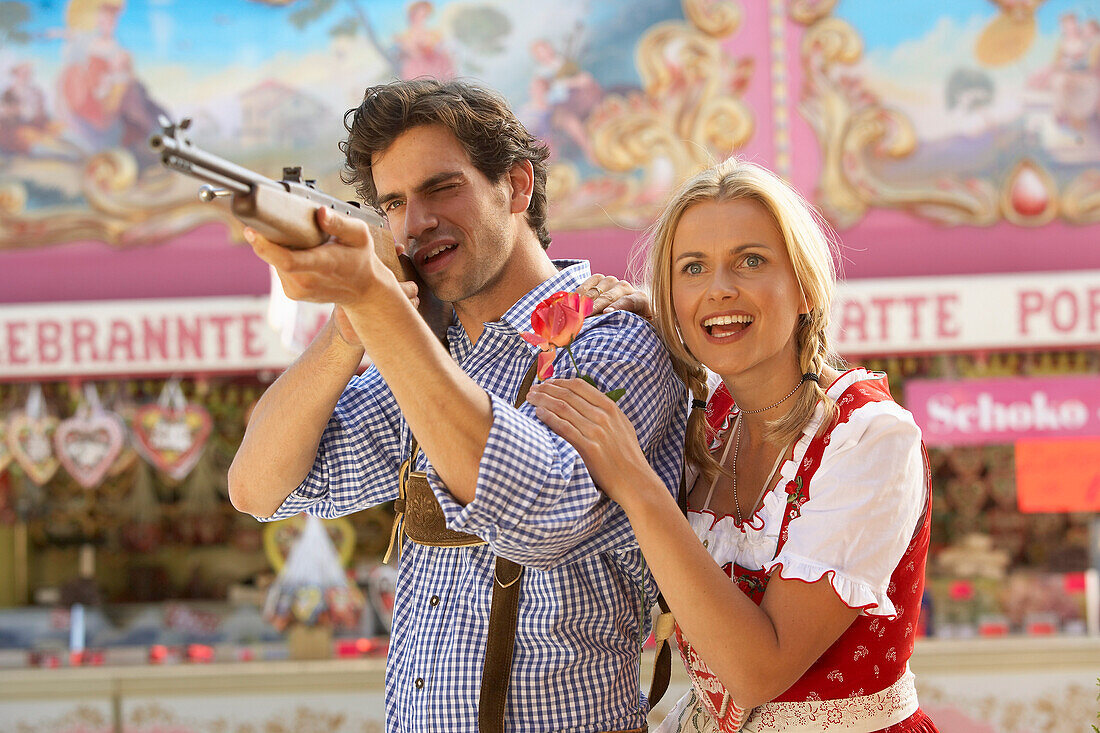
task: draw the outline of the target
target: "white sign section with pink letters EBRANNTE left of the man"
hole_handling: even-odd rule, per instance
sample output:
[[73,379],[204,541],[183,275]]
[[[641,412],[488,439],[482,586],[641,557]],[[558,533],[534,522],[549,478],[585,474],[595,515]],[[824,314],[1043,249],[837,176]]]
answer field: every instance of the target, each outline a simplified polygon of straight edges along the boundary
[[268,326],[267,306],[255,296],[2,306],[0,379],[283,369],[297,352]]

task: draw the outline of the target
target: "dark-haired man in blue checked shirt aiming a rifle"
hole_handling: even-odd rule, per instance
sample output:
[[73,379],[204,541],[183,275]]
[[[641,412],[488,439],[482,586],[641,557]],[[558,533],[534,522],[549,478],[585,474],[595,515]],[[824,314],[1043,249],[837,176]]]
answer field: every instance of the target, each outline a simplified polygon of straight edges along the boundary
[[[622,510],[529,405],[513,405],[537,355],[519,336],[535,306],[588,276],[586,263],[544,252],[548,151],[503,100],[455,81],[373,87],[348,118],[350,183],[453,304],[450,353],[361,222],[321,209],[332,239],[305,251],[248,232],[287,295],[337,308],[253,412],[230,496],[270,518],[393,500],[415,435],[447,527],[487,545],[405,541],[387,730],[479,730],[494,556],[526,567],[504,727],[642,729],[639,642],[657,589]],[[354,376],[364,349],[372,366]],[[686,396],[649,325],[620,311],[590,318],[572,353],[602,389],[626,389],[620,405],[675,491]],[[556,370],[575,375],[569,357]]]

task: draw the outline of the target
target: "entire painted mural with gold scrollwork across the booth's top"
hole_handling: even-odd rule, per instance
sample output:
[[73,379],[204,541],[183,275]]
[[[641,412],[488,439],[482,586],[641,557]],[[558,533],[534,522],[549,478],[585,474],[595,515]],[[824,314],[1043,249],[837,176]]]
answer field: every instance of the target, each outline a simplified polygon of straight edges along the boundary
[[732,153],[840,229],[1100,220],[1094,0],[0,0],[0,250],[235,230],[156,164],[162,118],[351,196],[343,112],[418,76],[550,143],[558,231],[644,228]]

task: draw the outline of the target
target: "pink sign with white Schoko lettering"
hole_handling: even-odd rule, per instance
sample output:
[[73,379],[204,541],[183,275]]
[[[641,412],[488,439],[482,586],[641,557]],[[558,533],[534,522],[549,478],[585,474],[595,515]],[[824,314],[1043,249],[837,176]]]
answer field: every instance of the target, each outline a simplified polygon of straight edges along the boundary
[[930,446],[1100,436],[1100,379],[1091,375],[910,380],[905,407]]

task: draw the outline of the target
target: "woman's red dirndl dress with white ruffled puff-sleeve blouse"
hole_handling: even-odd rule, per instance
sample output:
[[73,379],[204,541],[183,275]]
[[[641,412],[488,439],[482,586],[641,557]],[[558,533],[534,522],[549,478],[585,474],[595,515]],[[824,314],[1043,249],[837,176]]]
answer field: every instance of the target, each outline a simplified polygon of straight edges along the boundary
[[[693,511],[689,522],[757,604],[773,572],[806,582],[828,576],[860,615],[794,685],[752,710],[737,707],[676,627],[692,690],[657,733],[935,733],[909,670],[931,533],[932,484],[920,429],[893,402],[882,373],[850,370],[827,393],[837,401],[837,422],[814,435],[818,411],[752,517],[737,525],[730,516]],[[719,386],[707,404],[712,449],[736,414]],[[853,560],[838,549],[850,544],[839,522],[858,523],[860,545],[873,557]]]

